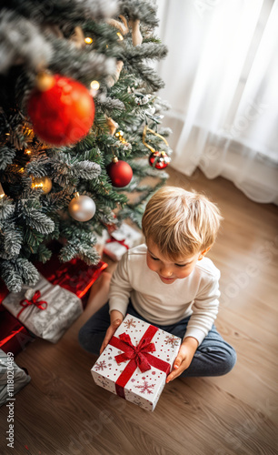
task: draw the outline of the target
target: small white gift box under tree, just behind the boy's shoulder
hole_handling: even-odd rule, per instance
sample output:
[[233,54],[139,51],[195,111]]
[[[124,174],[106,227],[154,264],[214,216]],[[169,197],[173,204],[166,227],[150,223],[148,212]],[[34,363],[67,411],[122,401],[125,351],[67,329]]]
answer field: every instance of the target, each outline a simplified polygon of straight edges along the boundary
[[114,230],[111,237],[104,245],[104,254],[114,261],[120,260],[127,249],[134,248],[144,242],[142,232],[134,227],[122,223],[121,227]]

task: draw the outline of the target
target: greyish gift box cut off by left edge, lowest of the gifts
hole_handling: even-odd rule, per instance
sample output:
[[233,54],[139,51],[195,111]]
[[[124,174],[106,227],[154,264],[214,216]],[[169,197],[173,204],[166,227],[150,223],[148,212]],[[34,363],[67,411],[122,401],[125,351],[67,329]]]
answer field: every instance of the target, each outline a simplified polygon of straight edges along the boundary
[[0,349],[0,406],[5,404],[9,415],[14,416],[15,393],[30,380],[28,372],[16,365],[14,356]]

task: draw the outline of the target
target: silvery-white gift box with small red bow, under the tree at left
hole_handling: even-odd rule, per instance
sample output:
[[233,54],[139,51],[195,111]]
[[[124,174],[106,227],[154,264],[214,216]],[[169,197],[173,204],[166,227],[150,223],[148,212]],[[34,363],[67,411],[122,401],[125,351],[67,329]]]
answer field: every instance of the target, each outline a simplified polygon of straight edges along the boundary
[[[30,297],[25,297],[26,290]],[[34,290],[40,291],[40,296],[33,298],[39,308],[34,303],[28,303],[32,301]],[[65,330],[83,312],[80,298],[65,288],[52,285],[42,275],[34,287],[25,286],[21,292],[10,292],[2,304],[37,337],[52,343],[61,339]]]

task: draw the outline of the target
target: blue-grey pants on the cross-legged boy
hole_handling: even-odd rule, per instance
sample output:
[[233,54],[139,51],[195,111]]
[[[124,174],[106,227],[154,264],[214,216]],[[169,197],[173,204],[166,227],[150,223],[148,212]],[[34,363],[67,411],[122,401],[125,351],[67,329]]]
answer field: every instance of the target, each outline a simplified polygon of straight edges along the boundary
[[[99,356],[99,351],[104,340],[106,330],[110,326],[108,302],[100,308],[92,318],[88,319],[79,331],[79,343],[88,352]],[[144,319],[134,309],[131,300],[127,307],[126,313],[135,318]],[[159,329],[172,333],[176,337],[184,338],[185,330],[190,317],[182,319],[170,326],[160,326],[153,324]],[[214,324],[208,332],[200,346],[198,346],[194,358],[188,369],[180,375],[180,378],[197,377],[197,376],[222,376],[233,369],[236,362],[236,352],[222,336],[217,332]]]

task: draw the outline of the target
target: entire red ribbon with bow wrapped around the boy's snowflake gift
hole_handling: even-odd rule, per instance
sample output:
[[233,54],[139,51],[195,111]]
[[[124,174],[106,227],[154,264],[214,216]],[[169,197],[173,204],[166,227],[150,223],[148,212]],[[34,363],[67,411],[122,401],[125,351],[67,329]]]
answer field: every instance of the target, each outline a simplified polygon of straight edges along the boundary
[[120,374],[119,378],[115,382],[115,390],[117,395],[120,397],[125,399],[124,387],[129,379],[131,379],[133,376],[134,371],[137,367],[139,367],[142,372],[151,369],[151,367],[154,367],[156,369],[164,371],[167,376],[170,373],[170,363],[165,362],[162,359],[158,359],[149,353],[150,351],[154,352],[155,350],[154,343],[151,343],[150,341],[154,338],[157,330],[157,327],[149,326],[149,328],[146,329],[144,336],[140,340],[138,346],[133,345],[129,335],[126,333],[119,335],[119,339],[116,337],[112,337],[112,339],[110,339],[109,344],[111,346],[124,351],[123,354],[115,356],[117,363],[121,363],[126,359],[130,359],[124,371]]

